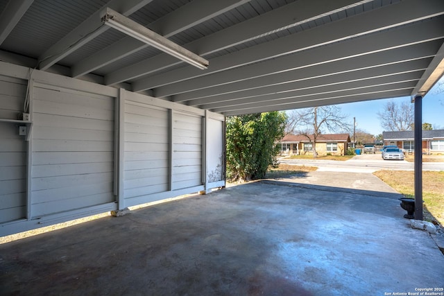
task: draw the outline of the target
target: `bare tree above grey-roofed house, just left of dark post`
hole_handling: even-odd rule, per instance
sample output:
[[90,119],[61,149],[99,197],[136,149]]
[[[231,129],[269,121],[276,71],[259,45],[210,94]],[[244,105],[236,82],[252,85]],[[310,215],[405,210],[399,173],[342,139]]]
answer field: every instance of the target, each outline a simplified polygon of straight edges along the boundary
[[388,101],[382,112],[377,112],[379,121],[384,130],[391,132],[411,130],[415,122],[413,104],[395,103]]

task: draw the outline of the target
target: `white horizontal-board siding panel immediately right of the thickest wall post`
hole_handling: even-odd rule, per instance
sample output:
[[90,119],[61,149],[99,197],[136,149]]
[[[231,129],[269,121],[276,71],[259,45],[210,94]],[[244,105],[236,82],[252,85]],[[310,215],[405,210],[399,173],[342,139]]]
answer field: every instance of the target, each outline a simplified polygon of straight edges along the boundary
[[127,101],[124,138],[125,198],[168,191],[168,110]]

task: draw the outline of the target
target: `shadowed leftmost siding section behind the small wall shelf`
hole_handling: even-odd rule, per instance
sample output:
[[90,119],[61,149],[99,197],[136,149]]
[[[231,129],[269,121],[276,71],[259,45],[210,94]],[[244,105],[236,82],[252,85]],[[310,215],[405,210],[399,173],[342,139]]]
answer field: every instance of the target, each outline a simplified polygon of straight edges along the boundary
[[[0,119],[23,112],[26,80],[0,76]],[[0,122],[0,223],[26,216],[26,141],[17,123]]]

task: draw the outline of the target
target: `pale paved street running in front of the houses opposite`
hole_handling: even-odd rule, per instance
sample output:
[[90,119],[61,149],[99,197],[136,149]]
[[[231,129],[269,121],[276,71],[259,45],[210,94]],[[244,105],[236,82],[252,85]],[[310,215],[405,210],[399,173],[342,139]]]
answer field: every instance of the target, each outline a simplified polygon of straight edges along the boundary
[[[380,154],[356,155],[345,162],[315,159],[280,159],[282,164],[317,166],[318,171],[373,173],[381,170],[413,171],[413,162],[384,160]],[[444,171],[444,162],[425,162],[422,171]]]

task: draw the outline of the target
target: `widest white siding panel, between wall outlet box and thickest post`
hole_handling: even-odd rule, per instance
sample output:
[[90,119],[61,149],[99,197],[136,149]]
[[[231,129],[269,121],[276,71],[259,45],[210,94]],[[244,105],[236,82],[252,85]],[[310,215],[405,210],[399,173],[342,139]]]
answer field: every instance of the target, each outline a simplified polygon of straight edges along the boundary
[[33,217],[114,201],[114,98],[35,87]]

